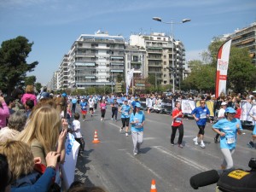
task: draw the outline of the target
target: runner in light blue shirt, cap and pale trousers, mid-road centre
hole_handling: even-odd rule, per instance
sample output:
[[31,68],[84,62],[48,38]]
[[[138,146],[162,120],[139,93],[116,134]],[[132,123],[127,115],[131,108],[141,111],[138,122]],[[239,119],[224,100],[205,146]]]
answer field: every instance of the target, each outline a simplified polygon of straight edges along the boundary
[[141,111],[141,104],[139,102],[134,106],[133,113],[131,113],[131,136],[133,143],[133,154],[137,155],[143,144],[143,130],[145,123],[145,114]]

